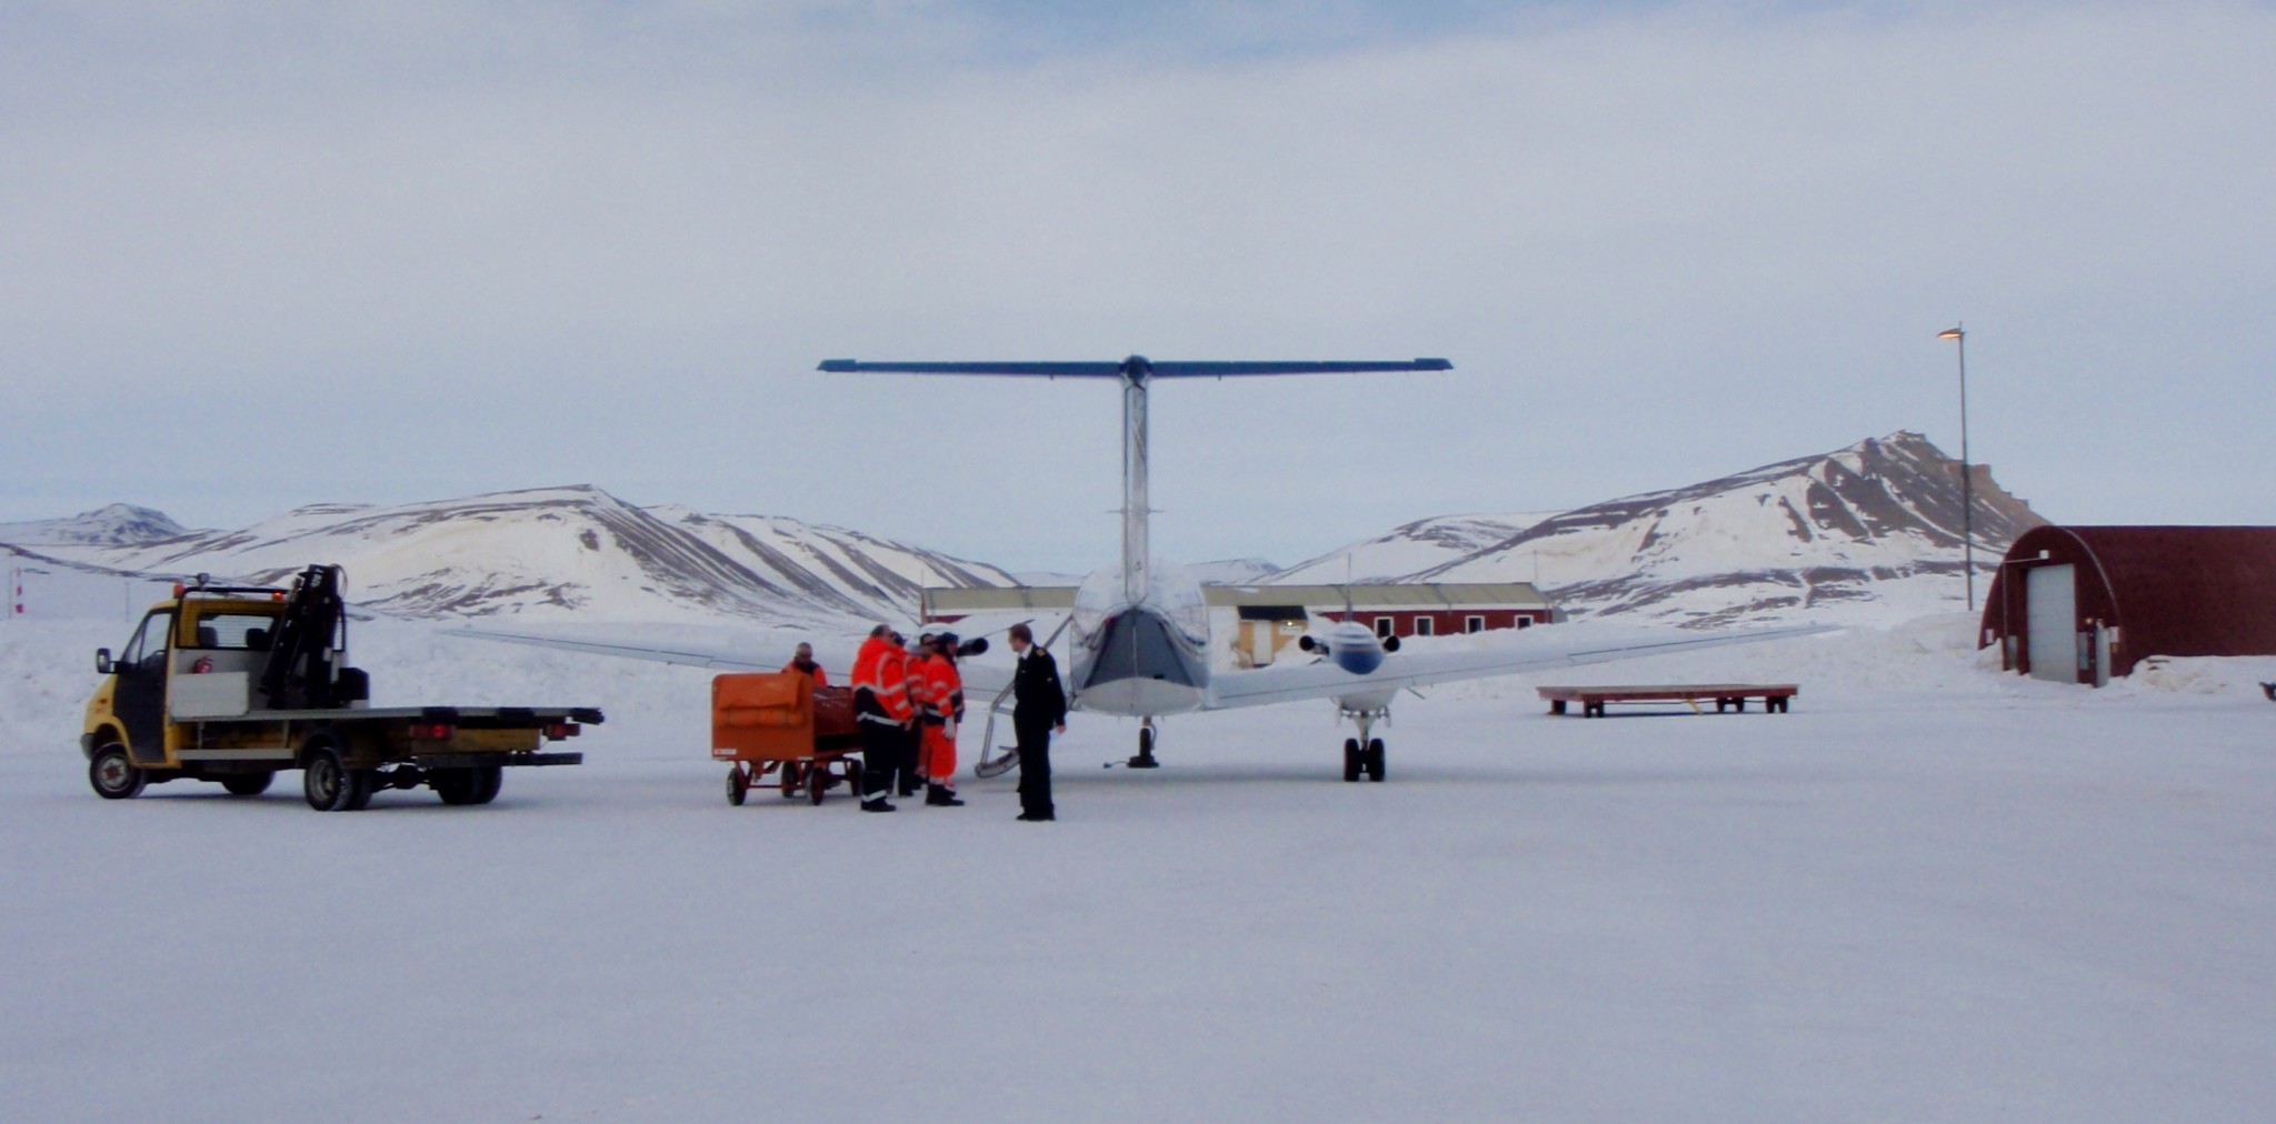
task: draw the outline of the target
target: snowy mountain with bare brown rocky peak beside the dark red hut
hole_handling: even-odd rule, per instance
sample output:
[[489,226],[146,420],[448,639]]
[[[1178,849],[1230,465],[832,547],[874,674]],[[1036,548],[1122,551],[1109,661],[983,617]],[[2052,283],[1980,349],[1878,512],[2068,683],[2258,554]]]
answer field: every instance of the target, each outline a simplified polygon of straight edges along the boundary
[[[1976,564],[1989,576],[2044,523],[1976,466]],[[1514,523],[1507,535],[1495,521]],[[1916,432],[1625,496],[1552,516],[1407,523],[1275,582],[1539,582],[1573,614],[1673,623],[1910,617],[1962,598],[1960,462]]]

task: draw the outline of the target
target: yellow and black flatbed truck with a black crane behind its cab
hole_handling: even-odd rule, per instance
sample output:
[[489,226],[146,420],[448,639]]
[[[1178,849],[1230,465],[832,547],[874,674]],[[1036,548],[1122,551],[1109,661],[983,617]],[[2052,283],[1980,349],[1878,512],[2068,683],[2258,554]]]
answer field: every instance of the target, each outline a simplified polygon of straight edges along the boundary
[[96,651],[80,751],[96,794],[212,780],[257,796],[300,769],[319,812],[376,792],[430,787],[444,803],[498,796],[510,767],[578,765],[542,751],[601,724],[599,708],[371,708],[371,678],[346,664],[339,567],[307,567],[284,589],[178,585],[150,605],[121,655]]

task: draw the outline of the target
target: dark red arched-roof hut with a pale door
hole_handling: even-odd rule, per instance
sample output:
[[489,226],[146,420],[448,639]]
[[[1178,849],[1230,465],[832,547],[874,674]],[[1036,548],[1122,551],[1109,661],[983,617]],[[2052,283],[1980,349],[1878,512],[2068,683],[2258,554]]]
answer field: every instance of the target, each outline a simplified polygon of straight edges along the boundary
[[2276,528],[2026,530],[1978,646],[2001,667],[2105,683],[2151,655],[2276,655]]

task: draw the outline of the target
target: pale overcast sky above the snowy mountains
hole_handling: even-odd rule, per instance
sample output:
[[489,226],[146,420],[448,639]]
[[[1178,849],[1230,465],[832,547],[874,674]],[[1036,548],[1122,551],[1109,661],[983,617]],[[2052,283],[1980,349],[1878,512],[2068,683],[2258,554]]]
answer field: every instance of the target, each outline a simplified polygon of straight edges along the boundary
[[[1020,569],[1891,430],[2276,523],[2269,5],[0,7],[0,519],[592,482]],[[924,448],[920,457],[917,448]],[[931,464],[929,464],[931,462]]]

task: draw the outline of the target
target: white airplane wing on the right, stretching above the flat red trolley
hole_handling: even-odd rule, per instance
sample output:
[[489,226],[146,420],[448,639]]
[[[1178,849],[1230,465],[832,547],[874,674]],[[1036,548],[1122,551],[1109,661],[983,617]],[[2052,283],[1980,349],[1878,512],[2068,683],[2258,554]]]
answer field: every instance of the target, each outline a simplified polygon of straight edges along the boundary
[[1402,692],[1434,683],[1516,676],[1559,667],[1605,664],[1666,655],[1675,651],[1755,644],[1764,639],[1834,633],[1830,626],[1748,628],[1684,635],[1659,630],[1595,630],[1586,623],[1527,628],[1509,644],[1457,651],[1391,653],[1368,676],[1354,676],[1334,662],[1297,667],[1261,667],[1256,671],[1220,671],[1211,678],[1211,703],[1204,710],[1243,705],[1300,703],[1306,699],[1341,699],[1347,694]]

